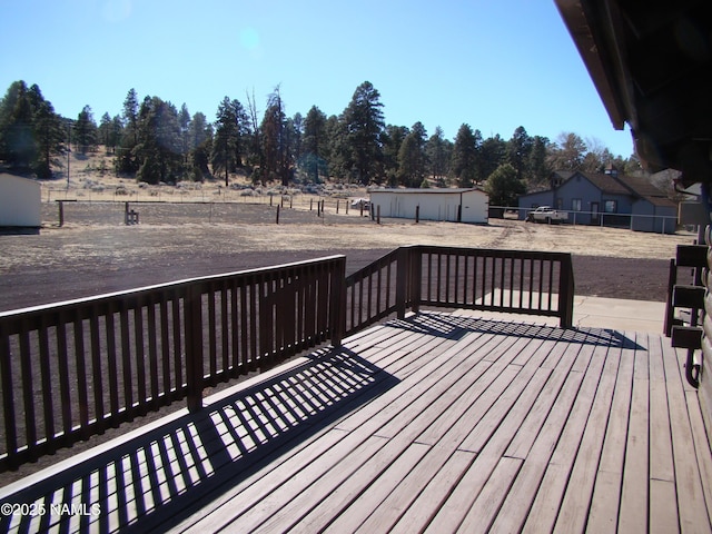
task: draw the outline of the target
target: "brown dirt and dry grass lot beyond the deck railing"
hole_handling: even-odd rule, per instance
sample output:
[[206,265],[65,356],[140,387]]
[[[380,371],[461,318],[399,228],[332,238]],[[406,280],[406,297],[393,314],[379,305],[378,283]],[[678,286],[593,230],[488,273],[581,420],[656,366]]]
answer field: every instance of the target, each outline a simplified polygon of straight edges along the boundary
[[43,205],[34,235],[1,235],[0,310],[152,284],[344,254],[349,273],[402,245],[447,245],[572,253],[578,295],[665,299],[669,259],[694,235],[657,235],[510,219],[488,225],[339,214],[322,217],[261,204],[131,204],[140,224],[123,224],[123,202]]

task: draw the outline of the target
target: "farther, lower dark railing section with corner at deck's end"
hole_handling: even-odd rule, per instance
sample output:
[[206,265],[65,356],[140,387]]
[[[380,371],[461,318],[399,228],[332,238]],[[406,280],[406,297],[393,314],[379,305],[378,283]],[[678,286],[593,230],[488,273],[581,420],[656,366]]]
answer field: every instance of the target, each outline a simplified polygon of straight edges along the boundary
[[565,253],[402,247],[346,279],[346,334],[421,306],[558,317],[573,324]]

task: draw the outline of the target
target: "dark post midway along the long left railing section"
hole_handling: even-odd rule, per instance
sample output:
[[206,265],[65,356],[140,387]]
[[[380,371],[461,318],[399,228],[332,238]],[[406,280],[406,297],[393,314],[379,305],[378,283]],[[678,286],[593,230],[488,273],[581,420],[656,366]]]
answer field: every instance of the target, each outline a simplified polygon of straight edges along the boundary
[[202,409],[202,294],[192,284],[185,297],[186,375],[188,409]]

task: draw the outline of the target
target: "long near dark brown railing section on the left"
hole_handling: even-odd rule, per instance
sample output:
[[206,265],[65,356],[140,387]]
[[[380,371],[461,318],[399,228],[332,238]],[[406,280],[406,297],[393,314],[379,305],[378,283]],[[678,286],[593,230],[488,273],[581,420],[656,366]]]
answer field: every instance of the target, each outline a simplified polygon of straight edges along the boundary
[[330,339],[345,258],[0,314],[0,469]]

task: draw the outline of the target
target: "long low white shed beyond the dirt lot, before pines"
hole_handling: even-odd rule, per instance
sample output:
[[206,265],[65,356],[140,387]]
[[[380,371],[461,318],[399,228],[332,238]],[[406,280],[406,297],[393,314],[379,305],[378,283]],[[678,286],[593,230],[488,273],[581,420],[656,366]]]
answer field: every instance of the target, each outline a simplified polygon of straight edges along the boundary
[[490,197],[477,188],[443,189],[372,189],[374,212],[382,217],[415,219],[419,207],[423,220],[487,222]]

